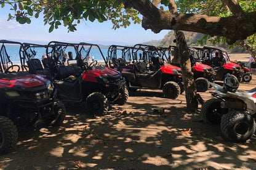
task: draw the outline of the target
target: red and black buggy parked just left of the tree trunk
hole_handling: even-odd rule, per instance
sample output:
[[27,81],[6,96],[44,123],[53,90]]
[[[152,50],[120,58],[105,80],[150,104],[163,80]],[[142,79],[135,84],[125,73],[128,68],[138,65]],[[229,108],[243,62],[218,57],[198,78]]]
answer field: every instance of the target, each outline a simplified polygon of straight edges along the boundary
[[[120,58],[115,55],[119,53]],[[113,68],[121,71],[122,76],[126,78],[130,91],[138,88],[162,89],[164,96],[171,99],[177,98],[184,91],[181,69],[161,62],[158,50],[154,46],[111,45],[108,58],[109,62],[113,62]],[[119,62],[116,62],[118,60]]]

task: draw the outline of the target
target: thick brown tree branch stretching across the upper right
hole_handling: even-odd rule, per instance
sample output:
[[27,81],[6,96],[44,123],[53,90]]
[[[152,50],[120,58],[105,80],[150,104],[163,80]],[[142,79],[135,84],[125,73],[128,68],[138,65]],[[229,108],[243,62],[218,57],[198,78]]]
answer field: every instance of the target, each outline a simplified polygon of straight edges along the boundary
[[150,0],[122,1],[126,7],[133,7],[138,10],[147,19],[142,22],[142,27],[151,29],[154,33],[159,33],[163,29],[191,31],[210,36],[226,37],[228,44],[246,39],[256,33],[256,12],[245,13],[250,20],[239,20],[234,16],[211,17],[195,14],[171,14],[158,9]]

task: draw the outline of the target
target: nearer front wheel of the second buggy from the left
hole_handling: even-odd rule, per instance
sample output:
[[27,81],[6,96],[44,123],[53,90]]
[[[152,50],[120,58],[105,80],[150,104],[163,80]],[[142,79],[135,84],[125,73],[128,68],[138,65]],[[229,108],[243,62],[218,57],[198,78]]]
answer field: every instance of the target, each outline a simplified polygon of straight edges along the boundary
[[86,108],[91,115],[103,116],[108,112],[108,99],[102,93],[92,93],[86,98]]

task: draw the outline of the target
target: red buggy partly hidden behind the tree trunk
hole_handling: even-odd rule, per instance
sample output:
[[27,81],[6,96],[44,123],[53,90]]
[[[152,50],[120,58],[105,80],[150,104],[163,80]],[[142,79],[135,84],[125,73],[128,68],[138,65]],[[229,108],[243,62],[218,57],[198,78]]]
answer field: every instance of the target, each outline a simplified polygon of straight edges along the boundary
[[[161,52],[162,60],[168,63],[180,67],[180,62],[175,61],[178,56],[178,48],[176,46],[170,46],[169,48],[158,47]],[[199,92],[207,91],[210,88],[210,82],[214,82],[216,72],[211,66],[202,64],[198,56],[198,51],[193,47],[189,47],[191,69],[194,74],[194,80],[196,83],[196,90]],[[167,57],[168,55],[168,57]]]

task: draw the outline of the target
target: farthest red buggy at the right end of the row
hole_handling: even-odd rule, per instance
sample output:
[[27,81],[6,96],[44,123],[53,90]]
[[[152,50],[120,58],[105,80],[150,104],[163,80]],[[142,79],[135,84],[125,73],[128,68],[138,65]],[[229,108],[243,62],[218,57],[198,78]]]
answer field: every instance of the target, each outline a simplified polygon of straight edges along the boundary
[[[230,61],[228,53],[222,47],[212,47],[212,46],[204,46],[204,47],[193,47],[199,51],[199,57],[203,64],[207,64],[214,68],[216,75],[215,80],[224,80],[226,74],[235,75],[239,82],[242,81],[242,75],[244,74],[244,70],[242,70],[241,66],[236,63]],[[217,56],[218,55],[218,56]]]

